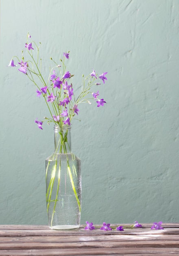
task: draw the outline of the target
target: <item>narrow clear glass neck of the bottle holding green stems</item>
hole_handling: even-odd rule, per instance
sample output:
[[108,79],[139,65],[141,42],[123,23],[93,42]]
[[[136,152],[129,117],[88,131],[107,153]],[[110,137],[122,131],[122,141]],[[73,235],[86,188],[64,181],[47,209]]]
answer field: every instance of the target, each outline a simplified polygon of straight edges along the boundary
[[54,126],[55,153],[71,153],[71,126]]

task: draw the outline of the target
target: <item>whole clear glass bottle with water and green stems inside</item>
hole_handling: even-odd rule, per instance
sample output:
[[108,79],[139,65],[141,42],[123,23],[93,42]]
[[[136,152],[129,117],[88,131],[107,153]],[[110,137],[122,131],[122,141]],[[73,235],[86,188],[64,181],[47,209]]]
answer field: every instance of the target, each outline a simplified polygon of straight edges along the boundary
[[81,160],[71,152],[70,131],[70,126],[54,126],[55,151],[46,159],[46,204],[51,229],[80,226]]

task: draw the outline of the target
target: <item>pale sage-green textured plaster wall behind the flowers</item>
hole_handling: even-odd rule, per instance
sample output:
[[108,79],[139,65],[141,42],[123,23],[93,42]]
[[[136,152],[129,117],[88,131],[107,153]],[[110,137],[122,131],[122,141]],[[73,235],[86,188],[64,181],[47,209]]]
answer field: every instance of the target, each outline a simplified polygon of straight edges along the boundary
[[[108,72],[104,107],[83,104],[72,123],[82,160],[81,223],[179,222],[179,1],[1,0],[0,224],[47,224],[45,158],[53,127],[17,69],[27,32],[49,57],[70,50],[74,86]],[[45,68],[44,68],[45,69]]]

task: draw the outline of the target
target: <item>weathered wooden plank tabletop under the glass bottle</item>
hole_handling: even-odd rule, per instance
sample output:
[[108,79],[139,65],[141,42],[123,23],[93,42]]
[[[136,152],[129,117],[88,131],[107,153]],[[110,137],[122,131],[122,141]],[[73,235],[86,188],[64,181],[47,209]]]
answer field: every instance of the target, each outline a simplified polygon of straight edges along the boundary
[[0,256],[178,255],[179,223],[163,223],[163,230],[151,226],[57,231],[47,226],[0,225]]

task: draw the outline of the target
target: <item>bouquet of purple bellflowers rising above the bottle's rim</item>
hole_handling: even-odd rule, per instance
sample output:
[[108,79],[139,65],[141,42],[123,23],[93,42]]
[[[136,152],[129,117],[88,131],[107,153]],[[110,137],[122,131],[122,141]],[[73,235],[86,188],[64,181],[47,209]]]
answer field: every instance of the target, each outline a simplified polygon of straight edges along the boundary
[[[97,107],[103,106],[106,101],[104,99],[99,99],[99,91],[92,92],[92,86],[100,85],[100,80],[105,83],[107,72],[103,72],[100,76],[97,76],[96,72],[93,70],[91,74],[84,78],[82,76],[81,93],[78,97],[74,95],[74,88],[72,85],[73,74],[70,71],[66,71],[65,60],[69,59],[70,52],[64,52],[63,58],[59,59],[59,63],[56,63],[51,57],[50,59],[55,64],[50,70],[48,80],[45,81],[44,76],[41,73],[41,58],[39,56],[39,49],[41,43],[37,45],[34,41],[29,42],[31,38],[30,34],[27,36],[27,42],[24,47],[27,50],[26,58],[23,55],[22,59],[14,56],[9,66],[16,67],[14,64],[14,58],[17,58],[17,64],[19,65],[18,70],[25,74],[37,87],[37,97],[43,97],[46,101],[48,110],[50,111],[50,117],[45,118],[44,121],[54,122],[55,124],[63,127],[63,125],[71,125],[71,120],[74,115],[78,115],[79,104],[89,103],[90,99],[94,99],[97,103]],[[33,56],[35,52],[36,56]],[[30,58],[28,60],[28,57]],[[100,80],[99,80],[100,79]],[[89,97],[89,95],[91,95]],[[38,127],[42,129],[42,124],[44,121],[35,120]]]

